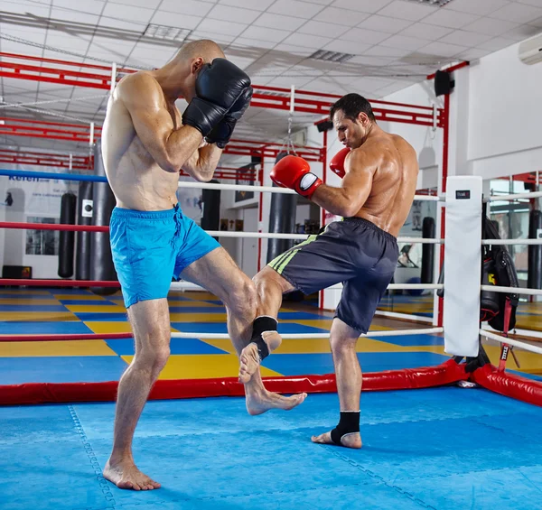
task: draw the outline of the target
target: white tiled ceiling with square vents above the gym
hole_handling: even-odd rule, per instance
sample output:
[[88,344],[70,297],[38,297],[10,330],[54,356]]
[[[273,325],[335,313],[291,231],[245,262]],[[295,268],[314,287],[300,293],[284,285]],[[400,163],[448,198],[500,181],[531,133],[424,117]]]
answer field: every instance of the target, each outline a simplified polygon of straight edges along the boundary
[[[443,7],[425,2],[2,0],[0,51],[152,69],[170,60],[182,43],[145,35],[152,23],[185,29],[186,41],[213,39],[254,84],[377,99],[444,64],[476,60],[542,32],[542,0],[451,0]],[[317,50],[353,57],[344,63],[310,58]],[[98,125],[107,102],[100,90],[11,78],[0,78],[0,96],[0,116]],[[19,103],[26,106],[13,106]],[[287,112],[249,108],[236,137],[284,141],[287,118]],[[314,120],[294,114],[294,130]],[[85,149],[14,136],[0,136],[0,144]]]

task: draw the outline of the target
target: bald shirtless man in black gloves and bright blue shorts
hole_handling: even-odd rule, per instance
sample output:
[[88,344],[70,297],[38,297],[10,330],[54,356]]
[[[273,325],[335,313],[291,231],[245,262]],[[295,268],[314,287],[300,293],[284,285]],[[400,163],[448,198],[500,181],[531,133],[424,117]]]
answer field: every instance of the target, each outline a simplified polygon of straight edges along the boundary
[[[175,107],[180,96],[188,102],[182,115]],[[117,487],[160,487],[135,467],[132,440],[170,354],[172,278],[198,283],[218,296],[238,354],[248,344],[257,308],[254,283],[182,214],[176,191],[181,170],[196,181],[210,181],[251,97],[247,74],[226,60],[215,42],[194,41],[163,68],[121,79],[109,99],[102,153],[117,199],[111,250],[135,338],[134,359],[118,385],[113,451],[104,468],[104,477]],[[245,385],[251,414],[301,401],[266,392],[261,378],[253,380]]]

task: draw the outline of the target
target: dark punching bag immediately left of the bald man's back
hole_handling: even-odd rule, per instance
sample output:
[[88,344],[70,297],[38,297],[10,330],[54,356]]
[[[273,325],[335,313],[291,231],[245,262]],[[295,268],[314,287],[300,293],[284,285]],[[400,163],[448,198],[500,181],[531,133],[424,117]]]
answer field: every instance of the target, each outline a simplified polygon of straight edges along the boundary
[[[94,145],[94,173],[96,175],[106,175],[101,154],[101,140],[98,140]],[[93,182],[92,197],[92,225],[108,226],[116,203],[109,183]],[[92,233],[90,242],[90,280],[117,280],[108,232]],[[91,288],[92,292],[102,296],[114,294],[117,290],[115,287]]]

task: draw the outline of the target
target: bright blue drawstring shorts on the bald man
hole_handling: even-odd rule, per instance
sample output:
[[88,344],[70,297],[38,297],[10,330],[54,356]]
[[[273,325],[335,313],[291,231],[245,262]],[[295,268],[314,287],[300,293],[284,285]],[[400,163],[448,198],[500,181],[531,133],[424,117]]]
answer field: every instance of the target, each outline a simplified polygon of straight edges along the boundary
[[111,253],[126,309],[137,301],[167,297],[172,279],[220,244],[173,209],[113,209],[109,223]]

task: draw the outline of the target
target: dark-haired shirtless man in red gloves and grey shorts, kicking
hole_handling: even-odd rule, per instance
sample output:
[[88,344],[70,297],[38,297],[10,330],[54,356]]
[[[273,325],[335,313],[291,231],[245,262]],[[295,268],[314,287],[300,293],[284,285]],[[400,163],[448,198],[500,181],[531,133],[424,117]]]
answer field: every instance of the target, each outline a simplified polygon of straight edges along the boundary
[[356,344],[367,333],[397,267],[397,235],[415,196],[418,162],[414,148],[380,128],[369,101],[358,94],[341,97],[330,119],[345,145],[330,162],[341,185],[324,184],[308,162],[294,155],[276,163],[271,179],[344,220],[277,256],[255,276],[257,319],[253,338],[241,353],[239,380],[247,384],[257,376],[261,360],[280,345],[276,317],[285,292],[310,294],[343,283],[330,331],[341,418],[337,427],[313,441],[360,448]]

